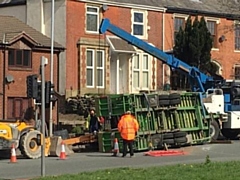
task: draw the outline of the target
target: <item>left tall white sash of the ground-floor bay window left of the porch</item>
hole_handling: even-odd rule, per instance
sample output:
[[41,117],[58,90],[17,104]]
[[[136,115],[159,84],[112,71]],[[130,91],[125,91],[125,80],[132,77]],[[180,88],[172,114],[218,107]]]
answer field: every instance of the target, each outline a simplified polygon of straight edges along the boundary
[[94,50],[87,50],[87,87],[94,87]]

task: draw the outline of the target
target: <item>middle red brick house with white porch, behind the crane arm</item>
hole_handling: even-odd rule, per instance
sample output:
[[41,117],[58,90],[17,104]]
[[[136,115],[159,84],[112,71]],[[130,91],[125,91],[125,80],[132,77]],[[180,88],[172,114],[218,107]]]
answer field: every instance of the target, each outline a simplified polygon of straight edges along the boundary
[[[99,35],[98,28],[102,18],[110,18],[112,23],[162,48],[162,14],[155,11],[161,12],[163,8],[153,11],[153,7],[148,7],[146,11],[137,4],[130,6],[128,3],[117,5],[109,2],[106,5],[104,9],[103,4],[97,1],[67,1],[67,19],[71,19],[67,21],[67,47],[74,46],[74,42],[78,41],[79,55],[71,53],[69,56],[70,59],[79,58],[70,65],[76,67],[80,62],[80,94],[135,93],[159,89],[161,62],[109,33]],[[72,23],[79,20],[81,23]],[[77,78],[72,83],[76,82]]]

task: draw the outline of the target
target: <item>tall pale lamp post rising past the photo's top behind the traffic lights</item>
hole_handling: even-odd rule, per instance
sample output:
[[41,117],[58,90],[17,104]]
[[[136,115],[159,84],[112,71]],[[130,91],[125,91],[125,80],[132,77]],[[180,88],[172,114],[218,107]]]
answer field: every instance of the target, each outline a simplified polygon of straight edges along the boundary
[[[52,19],[52,21],[51,21],[51,59],[50,59],[50,61],[51,61],[51,64],[50,64],[50,81],[51,81],[51,83],[53,84],[53,61],[54,61],[54,58],[53,58],[53,48],[54,48],[54,23],[55,23],[55,21],[54,21],[54,11],[55,11],[55,0],[52,0],[52,15],[51,15],[51,19]],[[52,119],[52,117],[53,117],[53,115],[52,115],[52,106],[53,106],[53,104],[52,104],[52,101],[50,102],[50,117],[49,117],[49,136],[51,137],[52,136],[52,134],[53,134],[53,119]]]

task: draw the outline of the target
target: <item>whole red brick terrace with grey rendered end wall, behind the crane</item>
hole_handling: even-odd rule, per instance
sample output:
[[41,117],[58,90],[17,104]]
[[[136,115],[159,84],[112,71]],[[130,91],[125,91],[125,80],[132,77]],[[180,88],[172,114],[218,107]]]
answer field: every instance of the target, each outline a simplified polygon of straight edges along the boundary
[[[14,11],[15,16],[49,35],[50,1],[21,2],[18,12],[14,11],[15,5],[5,5],[0,6],[0,14]],[[118,27],[163,51],[171,51],[174,34],[188,15],[204,16],[215,42],[212,60],[219,66],[218,73],[227,79],[239,73],[237,16],[231,8],[223,9],[218,0],[58,0],[55,3],[56,41],[67,47],[60,55],[59,65],[60,92],[66,96],[159,90],[169,82],[170,70],[160,61],[109,33],[99,35],[102,18],[109,18]]]

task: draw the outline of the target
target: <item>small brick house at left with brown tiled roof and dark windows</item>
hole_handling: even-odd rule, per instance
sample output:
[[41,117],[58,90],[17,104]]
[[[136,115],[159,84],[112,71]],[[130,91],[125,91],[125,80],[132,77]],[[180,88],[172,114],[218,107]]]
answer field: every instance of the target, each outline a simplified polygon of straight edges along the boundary
[[[19,19],[0,16],[0,119],[30,119],[27,114],[33,101],[27,98],[26,77],[40,72],[40,58],[50,61],[50,39]],[[54,84],[58,89],[59,54],[64,48],[55,43]],[[50,64],[46,65],[46,80],[50,80]],[[49,119],[49,110],[46,119]],[[57,119],[57,106],[53,120]]]

